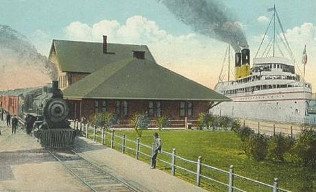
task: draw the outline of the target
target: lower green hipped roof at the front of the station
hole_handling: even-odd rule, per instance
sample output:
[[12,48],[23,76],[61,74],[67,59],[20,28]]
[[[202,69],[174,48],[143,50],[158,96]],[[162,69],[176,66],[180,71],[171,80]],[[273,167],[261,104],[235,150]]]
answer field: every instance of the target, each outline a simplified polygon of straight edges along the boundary
[[64,90],[66,99],[230,101],[206,86],[161,67],[129,58],[106,64]]

